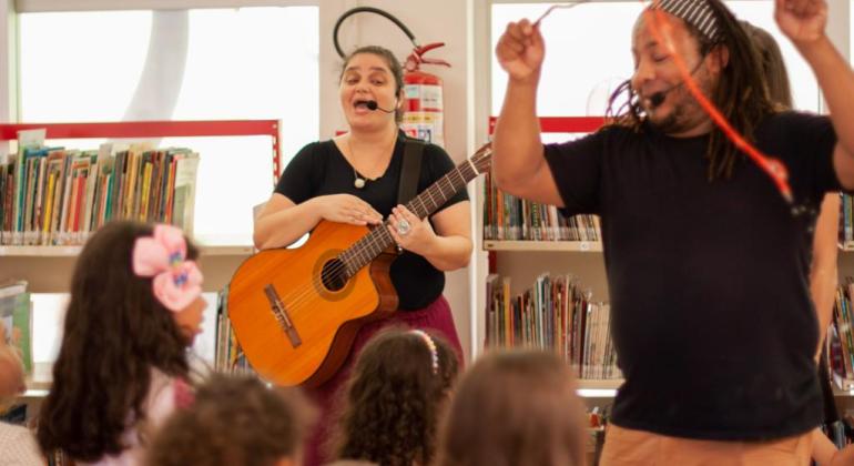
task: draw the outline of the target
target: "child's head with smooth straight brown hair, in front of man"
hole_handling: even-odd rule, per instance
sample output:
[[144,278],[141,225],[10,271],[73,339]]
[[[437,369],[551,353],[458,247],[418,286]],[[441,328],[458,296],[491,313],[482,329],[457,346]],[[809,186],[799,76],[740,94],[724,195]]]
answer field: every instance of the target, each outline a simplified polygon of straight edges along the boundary
[[572,373],[556,355],[488,354],[457,385],[438,464],[582,465],[583,414]]

